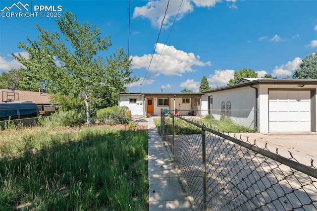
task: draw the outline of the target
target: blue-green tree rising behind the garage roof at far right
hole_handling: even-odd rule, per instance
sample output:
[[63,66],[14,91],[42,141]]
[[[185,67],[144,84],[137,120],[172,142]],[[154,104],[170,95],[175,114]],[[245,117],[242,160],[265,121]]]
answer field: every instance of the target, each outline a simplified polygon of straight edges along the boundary
[[317,52],[307,55],[299,66],[300,68],[295,70],[293,78],[317,79]]

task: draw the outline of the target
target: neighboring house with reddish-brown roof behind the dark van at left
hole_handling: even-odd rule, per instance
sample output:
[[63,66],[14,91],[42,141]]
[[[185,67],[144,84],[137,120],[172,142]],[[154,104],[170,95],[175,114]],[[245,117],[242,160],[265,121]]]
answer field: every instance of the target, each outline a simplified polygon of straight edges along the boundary
[[41,114],[49,115],[56,110],[56,106],[52,106],[50,97],[46,93],[21,91],[21,90],[8,90],[0,89],[1,102],[13,102],[13,101],[32,101],[37,104]]

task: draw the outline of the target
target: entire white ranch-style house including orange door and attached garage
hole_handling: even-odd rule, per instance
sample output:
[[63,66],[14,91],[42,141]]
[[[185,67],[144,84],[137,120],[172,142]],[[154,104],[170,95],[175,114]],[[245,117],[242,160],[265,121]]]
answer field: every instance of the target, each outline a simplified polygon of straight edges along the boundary
[[260,133],[316,132],[317,79],[242,78],[203,93],[120,93],[119,106],[133,116],[159,116],[161,108],[215,119],[228,115]]

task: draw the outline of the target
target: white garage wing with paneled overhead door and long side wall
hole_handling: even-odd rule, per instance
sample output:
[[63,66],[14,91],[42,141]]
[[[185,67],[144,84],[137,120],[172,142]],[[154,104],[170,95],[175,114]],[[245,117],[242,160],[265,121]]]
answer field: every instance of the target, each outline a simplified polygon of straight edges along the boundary
[[252,118],[258,132],[317,131],[317,79],[244,78],[203,93],[202,109],[220,110],[215,118],[235,109],[250,112],[232,118],[249,118],[257,110]]

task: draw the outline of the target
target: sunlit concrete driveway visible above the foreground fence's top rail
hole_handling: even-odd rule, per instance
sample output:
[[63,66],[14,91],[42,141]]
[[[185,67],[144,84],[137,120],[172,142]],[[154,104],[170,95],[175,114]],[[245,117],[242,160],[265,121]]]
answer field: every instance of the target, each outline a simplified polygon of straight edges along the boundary
[[[234,134],[229,134],[234,136]],[[235,137],[243,141],[249,140],[250,144],[254,144],[260,148],[266,148],[280,156],[295,158],[298,162],[317,167],[317,133],[316,132],[278,132],[278,133],[236,133]]]

